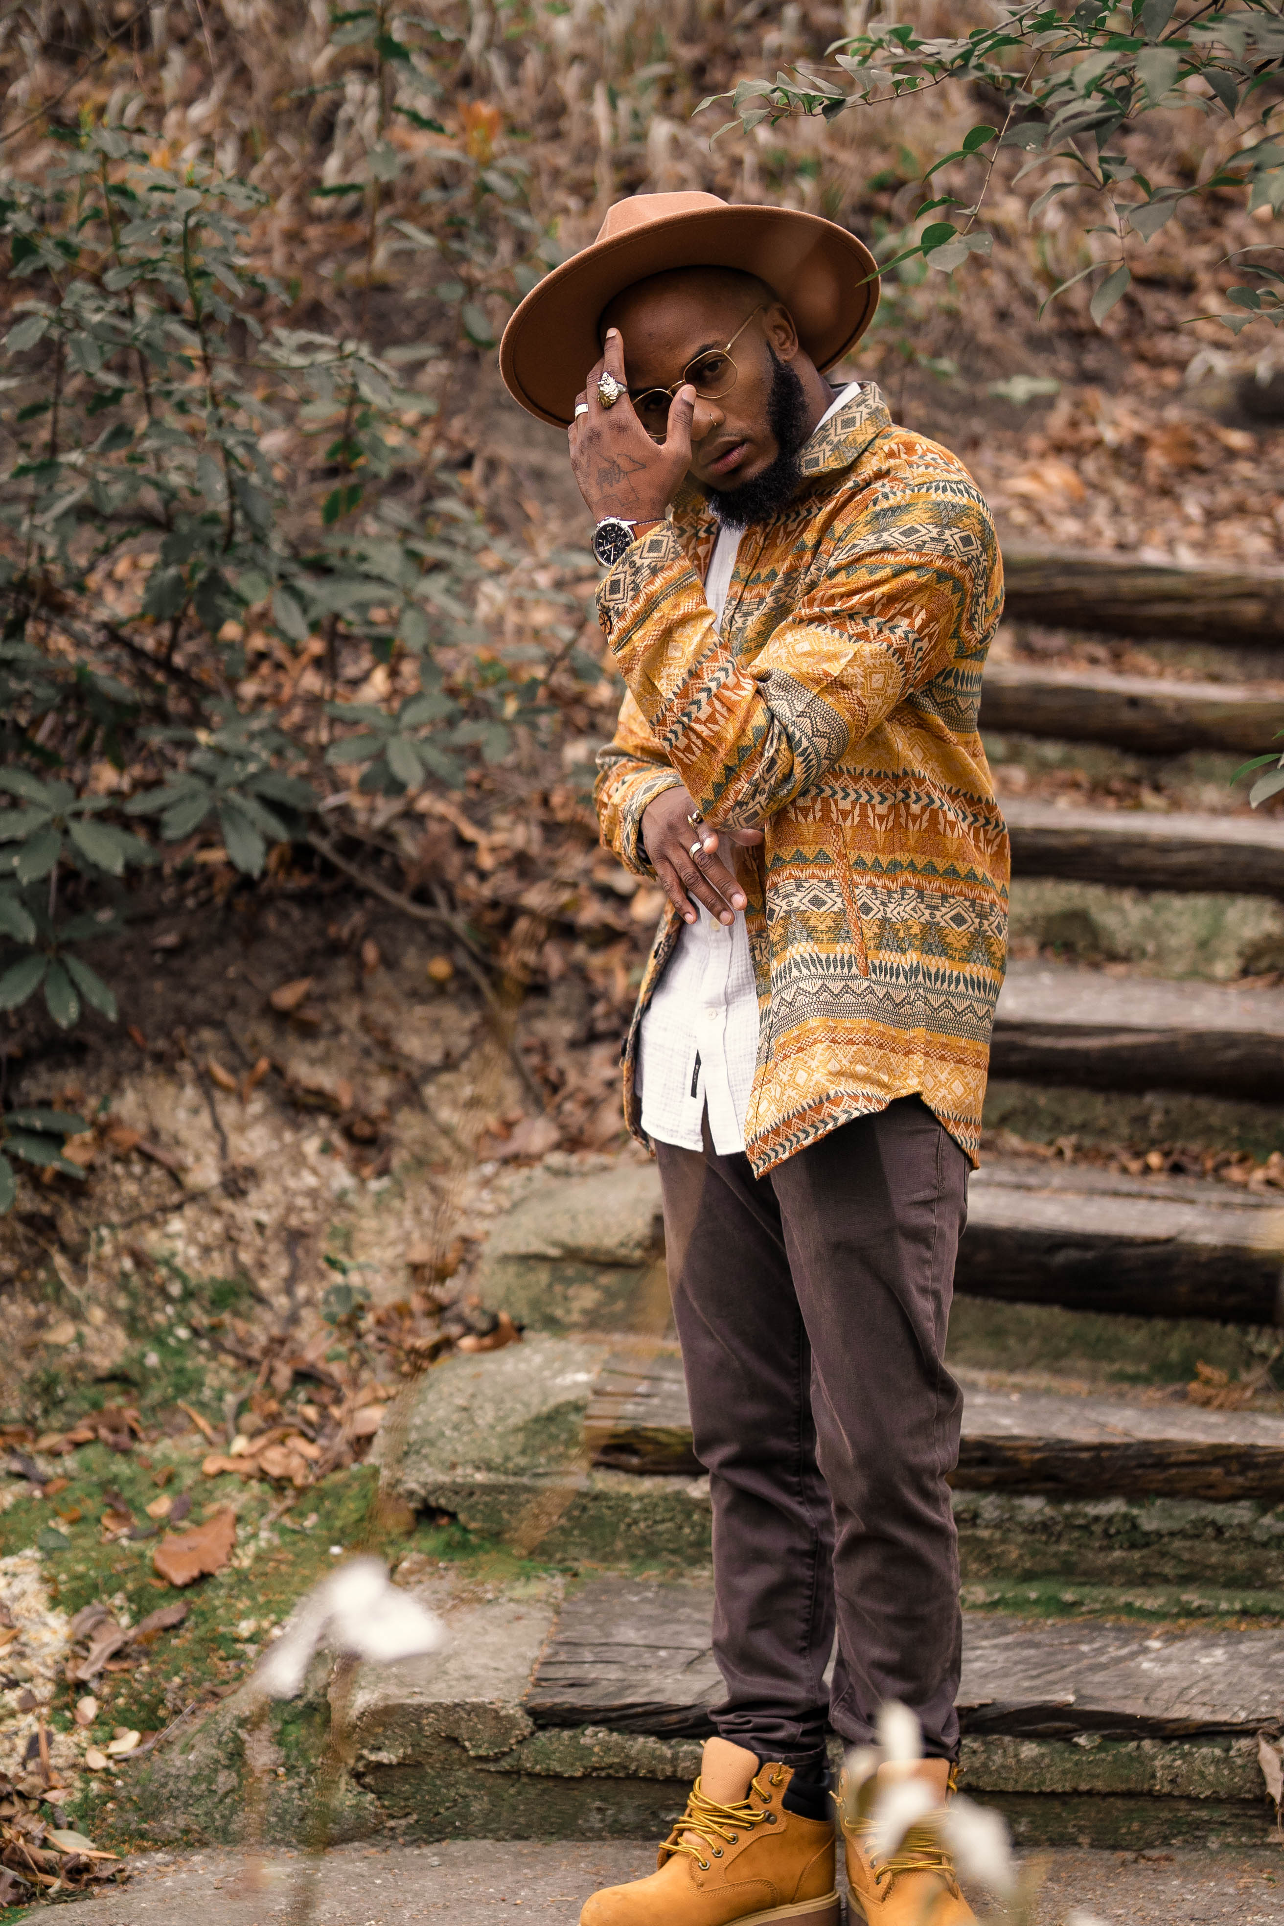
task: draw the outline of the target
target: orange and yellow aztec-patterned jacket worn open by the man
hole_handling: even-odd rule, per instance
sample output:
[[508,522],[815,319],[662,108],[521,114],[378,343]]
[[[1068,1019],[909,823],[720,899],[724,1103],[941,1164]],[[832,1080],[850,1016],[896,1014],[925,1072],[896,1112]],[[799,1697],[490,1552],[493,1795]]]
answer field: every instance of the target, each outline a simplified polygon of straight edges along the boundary
[[[603,842],[655,876],[647,805],[685,786],[737,851],[758,988],[745,1150],[758,1175],[918,1092],[976,1163],[1007,948],[1007,828],[976,730],[1003,566],[963,464],[866,383],[807,443],[805,485],[741,537],[722,632],[695,489],[599,589],[628,684],[599,755]],[[624,1052],[681,930],[668,905]]]

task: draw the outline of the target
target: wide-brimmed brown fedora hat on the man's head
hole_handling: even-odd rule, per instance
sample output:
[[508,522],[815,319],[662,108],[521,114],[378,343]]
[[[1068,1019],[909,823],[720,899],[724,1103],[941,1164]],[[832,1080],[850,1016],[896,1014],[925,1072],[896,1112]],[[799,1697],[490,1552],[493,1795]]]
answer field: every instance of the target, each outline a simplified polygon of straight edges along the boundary
[[864,241],[818,214],[730,206],[716,195],[629,195],[606,210],[597,241],[545,275],[504,327],[499,370],[512,399],[566,428],[603,352],[603,310],[670,268],[757,273],[793,314],[818,368],[855,347],[878,306],[878,262]]

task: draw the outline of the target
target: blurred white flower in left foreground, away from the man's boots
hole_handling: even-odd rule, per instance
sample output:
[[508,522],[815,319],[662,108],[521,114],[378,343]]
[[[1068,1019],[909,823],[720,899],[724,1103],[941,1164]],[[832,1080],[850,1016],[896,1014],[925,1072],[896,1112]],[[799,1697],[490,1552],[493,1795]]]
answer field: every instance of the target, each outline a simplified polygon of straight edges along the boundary
[[439,1651],[445,1637],[441,1620],[393,1585],[377,1558],[352,1558],[300,1599],[254,1683],[270,1699],[293,1699],[318,1651],[395,1664]]

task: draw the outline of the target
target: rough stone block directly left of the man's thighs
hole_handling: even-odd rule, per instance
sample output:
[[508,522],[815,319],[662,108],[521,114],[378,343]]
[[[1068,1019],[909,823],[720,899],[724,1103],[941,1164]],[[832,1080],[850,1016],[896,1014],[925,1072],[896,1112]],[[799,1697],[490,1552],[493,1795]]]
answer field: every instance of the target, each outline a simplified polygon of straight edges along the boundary
[[668,1323],[660,1173],[622,1163],[549,1177],[495,1225],[477,1290],[531,1331],[658,1335]]

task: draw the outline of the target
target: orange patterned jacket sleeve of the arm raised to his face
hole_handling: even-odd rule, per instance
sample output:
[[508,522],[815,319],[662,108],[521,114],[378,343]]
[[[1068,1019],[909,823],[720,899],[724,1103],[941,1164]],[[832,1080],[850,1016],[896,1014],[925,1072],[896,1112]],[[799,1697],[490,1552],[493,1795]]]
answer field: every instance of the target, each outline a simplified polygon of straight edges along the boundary
[[[870,526],[872,524],[872,526]],[[760,822],[832,768],[997,616],[997,543],[980,493],[862,516],[751,663],[718,636],[672,526],[599,589],[603,632],[658,753],[710,822]]]

